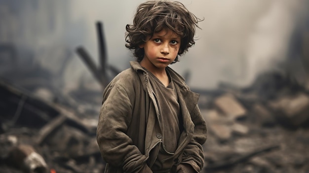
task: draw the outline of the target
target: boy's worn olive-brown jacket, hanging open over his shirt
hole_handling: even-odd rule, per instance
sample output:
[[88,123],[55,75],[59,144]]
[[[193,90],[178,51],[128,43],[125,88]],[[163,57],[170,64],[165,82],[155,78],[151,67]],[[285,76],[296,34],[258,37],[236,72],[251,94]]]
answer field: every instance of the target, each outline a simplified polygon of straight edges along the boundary
[[[158,103],[149,74],[138,62],[119,73],[106,87],[97,127],[97,141],[105,173],[152,173],[160,148],[161,123]],[[202,144],[207,128],[197,106],[199,95],[190,91],[181,77],[167,67],[179,98],[184,130],[175,151],[175,167],[190,164],[200,172],[204,164]]]

